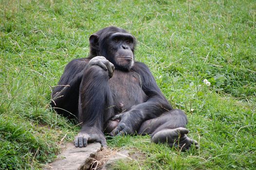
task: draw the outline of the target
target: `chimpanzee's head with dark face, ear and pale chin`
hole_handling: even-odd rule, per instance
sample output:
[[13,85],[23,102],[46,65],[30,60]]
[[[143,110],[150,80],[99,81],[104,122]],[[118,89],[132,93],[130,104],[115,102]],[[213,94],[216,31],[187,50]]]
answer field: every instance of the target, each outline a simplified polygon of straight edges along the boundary
[[107,27],[90,36],[90,55],[106,57],[115,69],[129,70],[134,63],[136,39],[126,30]]

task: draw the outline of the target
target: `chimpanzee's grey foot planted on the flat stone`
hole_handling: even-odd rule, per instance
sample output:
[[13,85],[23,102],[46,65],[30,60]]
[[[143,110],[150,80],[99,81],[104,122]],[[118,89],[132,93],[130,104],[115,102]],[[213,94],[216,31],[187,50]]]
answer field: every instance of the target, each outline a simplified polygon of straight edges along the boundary
[[100,142],[102,147],[107,147],[103,132],[94,127],[82,127],[81,132],[74,137],[74,145],[82,148],[86,147],[88,142]]

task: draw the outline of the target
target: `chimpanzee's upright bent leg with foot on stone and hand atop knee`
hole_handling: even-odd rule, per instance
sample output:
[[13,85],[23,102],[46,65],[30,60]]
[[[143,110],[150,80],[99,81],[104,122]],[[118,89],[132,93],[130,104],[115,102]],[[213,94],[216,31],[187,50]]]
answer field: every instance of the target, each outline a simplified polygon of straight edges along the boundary
[[[111,71],[109,69],[112,69]],[[81,132],[75,137],[76,147],[86,147],[87,142],[101,142],[107,146],[103,126],[110,119],[113,103],[109,79],[113,65],[104,57],[94,57],[85,70],[79,90],[79,123]]]

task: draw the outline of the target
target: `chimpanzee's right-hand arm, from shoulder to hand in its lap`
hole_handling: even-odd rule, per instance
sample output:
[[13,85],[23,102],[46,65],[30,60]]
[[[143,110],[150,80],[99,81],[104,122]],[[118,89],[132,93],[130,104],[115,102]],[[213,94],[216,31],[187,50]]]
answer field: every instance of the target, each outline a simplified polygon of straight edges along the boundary
[[147,100],[133,106],[125,113],[114,116],[113,120],[121,119],[121,121],[110,133],[111,136],[134,134],[145,120],[159,117],[164,112],[172,109],[171,104],[165,99],[146,65],[136,62],[132,69],[140,75],[142,89],[147,95]]

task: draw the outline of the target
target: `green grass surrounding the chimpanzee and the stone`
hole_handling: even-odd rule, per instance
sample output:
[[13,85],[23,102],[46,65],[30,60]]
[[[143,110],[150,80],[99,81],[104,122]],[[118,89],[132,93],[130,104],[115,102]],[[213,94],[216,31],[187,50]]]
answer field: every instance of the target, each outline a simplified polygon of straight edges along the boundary
[[116,169],[255,169],[255,0],[0,0],[0,169],[40,169],[73,140],[79,128],[50,109],[51,87],[110,25],[137,37],[136,60],[200,142],[181,153],[115,137],[110,148],[146,154]]

